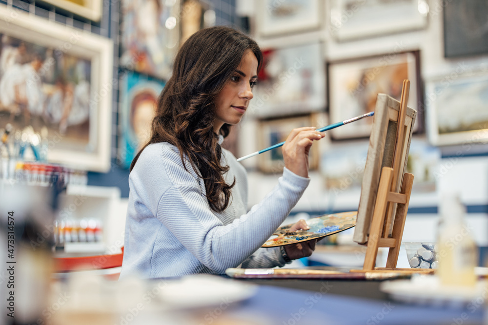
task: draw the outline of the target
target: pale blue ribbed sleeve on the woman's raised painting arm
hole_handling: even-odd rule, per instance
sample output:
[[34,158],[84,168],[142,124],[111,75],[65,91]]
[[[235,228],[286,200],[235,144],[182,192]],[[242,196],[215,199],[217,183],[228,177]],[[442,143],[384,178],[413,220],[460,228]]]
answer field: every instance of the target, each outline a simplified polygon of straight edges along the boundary
[[[175,166],[173,166],[175,167]],[[161,197],[156,217],[204,266],[216,273],[235,268],[252,255],[286,218],[298,202],[309,179],[285,169],[278,185],[228,225],[210,209],[206,197],[189,173],[178,179]],[[183,183],[183,184],[182,184]]]

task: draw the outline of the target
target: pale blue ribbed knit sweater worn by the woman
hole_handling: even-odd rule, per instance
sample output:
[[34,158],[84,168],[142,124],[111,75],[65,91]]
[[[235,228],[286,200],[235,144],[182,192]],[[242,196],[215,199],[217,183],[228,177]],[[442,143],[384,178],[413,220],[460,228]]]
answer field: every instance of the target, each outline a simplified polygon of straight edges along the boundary
[[222,164],[230,167],[226,182],[235,177],[236,185],[227,209],[217,213],[210,209],[203,180],[188,162],[188,171],[184,169],[175,146],[163,142],[143,150],[129,175],[121,278],[285,265],[278,248],[260,247],[298,202],[309,179],[285,168],[276,187],[247,212],[244,167],[224,149]]

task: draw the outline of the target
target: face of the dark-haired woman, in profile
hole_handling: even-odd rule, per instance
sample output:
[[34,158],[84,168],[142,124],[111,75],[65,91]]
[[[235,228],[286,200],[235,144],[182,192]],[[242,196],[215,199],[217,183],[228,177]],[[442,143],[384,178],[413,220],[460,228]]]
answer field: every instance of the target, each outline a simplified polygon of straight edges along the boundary
[[241,64],[215,98],[214,131],[227,124],[237,124],[244,115],[249,100],[252,98],[252,87],[256,83],[258,59],[251,50],[247,50]]

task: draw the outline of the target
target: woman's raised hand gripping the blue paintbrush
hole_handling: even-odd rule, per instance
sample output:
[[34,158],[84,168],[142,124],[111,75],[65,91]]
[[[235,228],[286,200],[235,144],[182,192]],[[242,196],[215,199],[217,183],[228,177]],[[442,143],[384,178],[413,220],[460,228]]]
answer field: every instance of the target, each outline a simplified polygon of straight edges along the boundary
[[313,140],[320,140],[324,132],[318,132],[315,127],[293,129],[282,147],[285,167],[295,174],[308,177],[308,153]]

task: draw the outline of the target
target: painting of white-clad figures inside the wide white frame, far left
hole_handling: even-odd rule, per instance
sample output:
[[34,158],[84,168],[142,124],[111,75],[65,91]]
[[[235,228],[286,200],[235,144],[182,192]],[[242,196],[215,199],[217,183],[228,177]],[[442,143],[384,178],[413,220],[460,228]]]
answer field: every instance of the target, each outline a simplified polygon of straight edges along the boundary
[[47,128],[48,137],[58,134],[71,148],[83,149],[89,140],[90,78],[89,60],[0,34],[0,128]]

